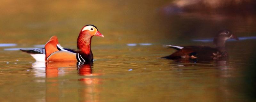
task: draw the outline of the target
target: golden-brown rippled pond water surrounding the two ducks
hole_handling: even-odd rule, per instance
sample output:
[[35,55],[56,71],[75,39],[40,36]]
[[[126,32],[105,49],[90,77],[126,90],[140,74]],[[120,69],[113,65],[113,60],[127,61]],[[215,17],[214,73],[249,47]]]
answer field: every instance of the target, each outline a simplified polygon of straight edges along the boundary
[[[170,1],[4,1],[0,4],[0,100],[9,101],[255,101],[255,15],[165,14]],[[8,8],[8,9],[7,9]],[[40,48],[57,35],[76,48],[82,26],[94,24],[94,63],[35,62],[19,48]],[[167,60],[177,46],[207,45],[220,29],[222,60]],[[12,43],[12,45],[6,45]]]

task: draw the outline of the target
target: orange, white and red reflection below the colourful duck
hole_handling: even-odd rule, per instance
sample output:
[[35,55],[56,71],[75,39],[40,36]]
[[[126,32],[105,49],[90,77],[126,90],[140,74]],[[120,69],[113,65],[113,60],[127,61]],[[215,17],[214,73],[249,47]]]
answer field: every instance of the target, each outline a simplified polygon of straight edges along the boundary
[[46,101],[60,101],[61,87],[65,87],[62,84],[63,80],[60,80],[60,76],[73,74],[72,71],[77,70],[79,76],[78,81],[81,82],[78,87],[79,99],[82,102],[94,102],[99,100],[98,93],[100,90],[97,85],[100,84],[100,79],[95,78],[100,74],[92,74],[93,63],[76,63],[76,62],[34,62],[32,69],[35,72],[36,77],[45,77],[45,80],[37,82],[45,82],[45,100]]

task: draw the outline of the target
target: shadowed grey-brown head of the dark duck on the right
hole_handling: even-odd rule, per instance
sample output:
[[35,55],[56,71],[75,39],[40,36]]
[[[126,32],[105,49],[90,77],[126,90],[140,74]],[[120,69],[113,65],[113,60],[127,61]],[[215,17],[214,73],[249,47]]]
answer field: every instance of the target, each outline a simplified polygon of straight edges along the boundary
[[216,47],[225,47],[226,40],[228,39],[239,40],[238,37],[232,34],[230,31],[221,30],[214,37],[213,43],[216,45]]

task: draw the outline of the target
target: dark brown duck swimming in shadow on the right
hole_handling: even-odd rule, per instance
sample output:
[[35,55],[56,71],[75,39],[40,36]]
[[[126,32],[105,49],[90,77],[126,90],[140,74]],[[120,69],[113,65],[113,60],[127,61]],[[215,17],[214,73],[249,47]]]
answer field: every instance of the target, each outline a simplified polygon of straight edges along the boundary
[[177,58],[220,58],[220,57],[227,57],[228,53],[226,51],[226,40],[228,39],[235,39],[239,40],[236,35],[232,34],[228,30],[219,31],[213,39],[213,43],[216,48],[208,47],[208,46],[171,46],[169,48],[174,48],[177,51],[174,52],[172,55],[165,56],[162,58],[166,59],[177,59]]

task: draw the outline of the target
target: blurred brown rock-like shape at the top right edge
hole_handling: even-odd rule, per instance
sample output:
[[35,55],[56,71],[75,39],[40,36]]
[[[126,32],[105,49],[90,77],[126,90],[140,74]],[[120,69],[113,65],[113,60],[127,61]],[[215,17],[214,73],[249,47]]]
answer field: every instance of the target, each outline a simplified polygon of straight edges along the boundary
[[180,12],[204,13],[252,13],[256,11],[255,0],[175,0],[164,6],[166,14]]

